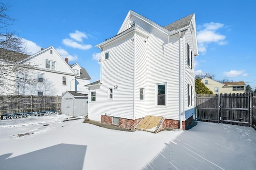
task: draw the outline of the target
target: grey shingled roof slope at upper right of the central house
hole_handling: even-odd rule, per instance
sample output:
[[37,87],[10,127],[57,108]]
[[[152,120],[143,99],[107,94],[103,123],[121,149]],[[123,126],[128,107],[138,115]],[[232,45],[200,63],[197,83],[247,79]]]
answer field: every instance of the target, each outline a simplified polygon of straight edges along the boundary
[[186,27],[190,24],[193,15],[194,15],[194,13],[190,14],[189,16],[186,16],[178,21],[170,23],[169,25],[166,25],[164,28],[167,29],[168,31],[174,31],[176,29]]

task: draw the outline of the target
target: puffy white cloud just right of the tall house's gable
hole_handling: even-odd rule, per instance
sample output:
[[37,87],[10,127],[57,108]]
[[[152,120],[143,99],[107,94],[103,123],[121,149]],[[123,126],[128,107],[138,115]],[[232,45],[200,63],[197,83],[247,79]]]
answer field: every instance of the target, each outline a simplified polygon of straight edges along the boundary
[[226,36],[217,32],[223,26],[224,24],[222,23],[210,22],[198,27],[201,28],[197,34],[198,51],[202,55],[206,54],[207,44],[209,43],[217,43],[218,45],[226,45],[228,43],[228,41],[225,41]]

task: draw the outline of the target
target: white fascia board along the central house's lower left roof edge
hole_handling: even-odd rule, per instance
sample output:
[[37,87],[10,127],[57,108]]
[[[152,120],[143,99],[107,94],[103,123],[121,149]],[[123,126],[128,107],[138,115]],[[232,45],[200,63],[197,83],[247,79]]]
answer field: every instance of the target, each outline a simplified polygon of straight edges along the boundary
[[120,38],[124,35],[127,35],[128,33],[131,33],[132,31],[137,31],[138,33],[141,33],[142,35],[145,35],[146,37],[148,37],[150,35],[150,33],[138,28],[135,25],[134,27],[131,27],[130,29],[127,29],[126,31],[124,31],[120,35],[112,37],[112,38],[108,39],[107,41],[104,41],[103,43],[100,43],[100,44],[96,45],[95,47],[103,47],[103,46],[107,45],[108,43],[111,43],[111,42],[115,41],[116,39],[118,39],[118,38]]

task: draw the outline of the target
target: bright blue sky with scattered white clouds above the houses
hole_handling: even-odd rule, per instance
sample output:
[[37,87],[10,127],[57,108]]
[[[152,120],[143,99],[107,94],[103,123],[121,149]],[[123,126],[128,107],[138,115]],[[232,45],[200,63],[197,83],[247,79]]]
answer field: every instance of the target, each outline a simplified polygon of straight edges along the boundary
[[53,46],[69,64],[100,79],[98,43],[118,32],[129,10],[168,25],[195,13],[200,55],[196,73],[244,81],[256,88],[256,2],[254,0],[2,0],[26,42],[27,52]]

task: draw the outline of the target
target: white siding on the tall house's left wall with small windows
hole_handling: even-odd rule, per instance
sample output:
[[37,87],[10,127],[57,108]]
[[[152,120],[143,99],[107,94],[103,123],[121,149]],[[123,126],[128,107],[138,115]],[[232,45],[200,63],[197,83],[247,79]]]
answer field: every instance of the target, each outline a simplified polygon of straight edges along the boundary
[[[101,81],[100,88],[96,90],[96,103],[89,104],[89,113],[111,115],[134,119],[134,44],[133,34],[122,37],[118,43],[102,47],[101,53]],[[111,56],[105,59],[105,52]],[[113,88],[114,100],[108,100],[106,89]],[[94,88],[90,87],[90,90]],[[93,118],[98,119],[97,116]]]

